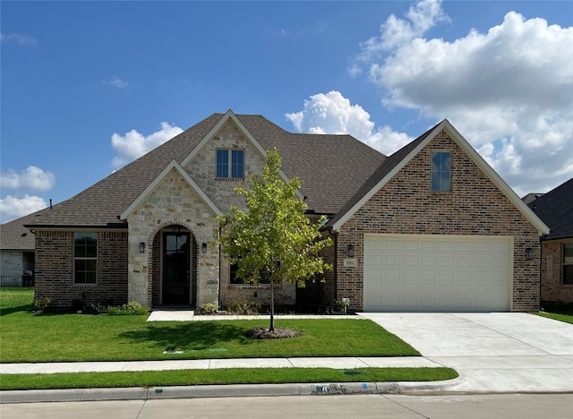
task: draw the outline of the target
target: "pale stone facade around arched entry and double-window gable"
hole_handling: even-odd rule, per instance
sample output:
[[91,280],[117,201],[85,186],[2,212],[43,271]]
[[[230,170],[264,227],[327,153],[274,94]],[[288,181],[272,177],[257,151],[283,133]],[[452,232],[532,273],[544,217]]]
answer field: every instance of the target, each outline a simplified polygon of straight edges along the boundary
[[[244,150],[243,179],[217,178],[218,149]],[[265,160],[259,150],[233,122],[228,121],[185,165],[184,170],[218,209],[227,212],[231,206],[244,207],[243,198],[235,192],[235,188],[248,187],[248,179],[254,174],[260,174],[264,165]],[[254,296],[249,286],[229,284],[228,262],[223,258],[219,263],[218,246],[212,245],[218,234],[215,217],[209,205],[176,169],[163,178],[127,218],[130,243],[129,300],[148,305],[161,304],[159,235],[165,227],[179,226],[191,232],[195,244],[191,261],[190,304],[197,307],[205,303],[224,305],[229,299],[236,298],[265,304],[268,292],[264,289],[261,288],[257,296]],[[140,243],[147,244],[145,252],[139,252]],[[199,250],[203,243],[207,244],[207,253]],[[294,288],[291,290],[286,286],[286,290],[295,294]]]

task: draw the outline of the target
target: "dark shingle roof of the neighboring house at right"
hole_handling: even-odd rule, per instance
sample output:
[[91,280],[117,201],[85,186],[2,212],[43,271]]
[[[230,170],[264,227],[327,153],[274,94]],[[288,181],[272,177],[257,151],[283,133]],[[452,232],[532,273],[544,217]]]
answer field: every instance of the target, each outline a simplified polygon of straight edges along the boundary
[[551,230],[544,240],[573,237],[573,178],[528,205]]

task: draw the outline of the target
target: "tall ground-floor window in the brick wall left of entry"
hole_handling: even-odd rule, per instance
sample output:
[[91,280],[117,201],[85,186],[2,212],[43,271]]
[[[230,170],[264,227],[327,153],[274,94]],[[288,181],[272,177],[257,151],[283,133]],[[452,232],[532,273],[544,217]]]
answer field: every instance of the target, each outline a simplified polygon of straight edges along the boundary
[[73,234],[73,282],[96,284],[98,273],[98,234]]

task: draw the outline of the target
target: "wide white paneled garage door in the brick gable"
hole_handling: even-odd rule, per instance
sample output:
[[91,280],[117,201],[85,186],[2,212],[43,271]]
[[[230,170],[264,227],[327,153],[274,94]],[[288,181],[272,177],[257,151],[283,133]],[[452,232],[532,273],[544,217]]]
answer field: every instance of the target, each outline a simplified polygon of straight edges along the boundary
[[511,237],[365,235],[364,311],[509,311],[511,249]]

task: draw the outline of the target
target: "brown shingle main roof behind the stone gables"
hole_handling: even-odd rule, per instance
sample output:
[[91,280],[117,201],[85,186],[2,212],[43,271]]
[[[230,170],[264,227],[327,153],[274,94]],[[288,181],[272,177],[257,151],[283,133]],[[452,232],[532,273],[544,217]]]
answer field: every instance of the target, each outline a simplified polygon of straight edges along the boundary
[[[42,211],[30,227],[125,227],[118,219],[124,209],[171,160],[181,163],[223,116],[210,115],[73,198]],[[280,150],[283,171],[304,181],[306,202],[317,213],[338,212],[385,158],[350,135],[288,133],[262,115],[236,116],[263,149]]]

